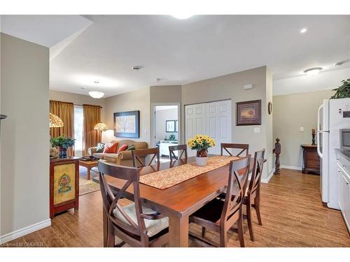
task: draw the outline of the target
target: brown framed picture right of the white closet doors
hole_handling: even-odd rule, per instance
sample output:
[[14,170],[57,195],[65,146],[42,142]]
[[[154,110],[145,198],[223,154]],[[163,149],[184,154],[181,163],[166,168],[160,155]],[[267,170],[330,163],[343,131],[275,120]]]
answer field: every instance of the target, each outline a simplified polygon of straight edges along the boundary
[[261,100],[236,103],[236,126],[261,124]]

